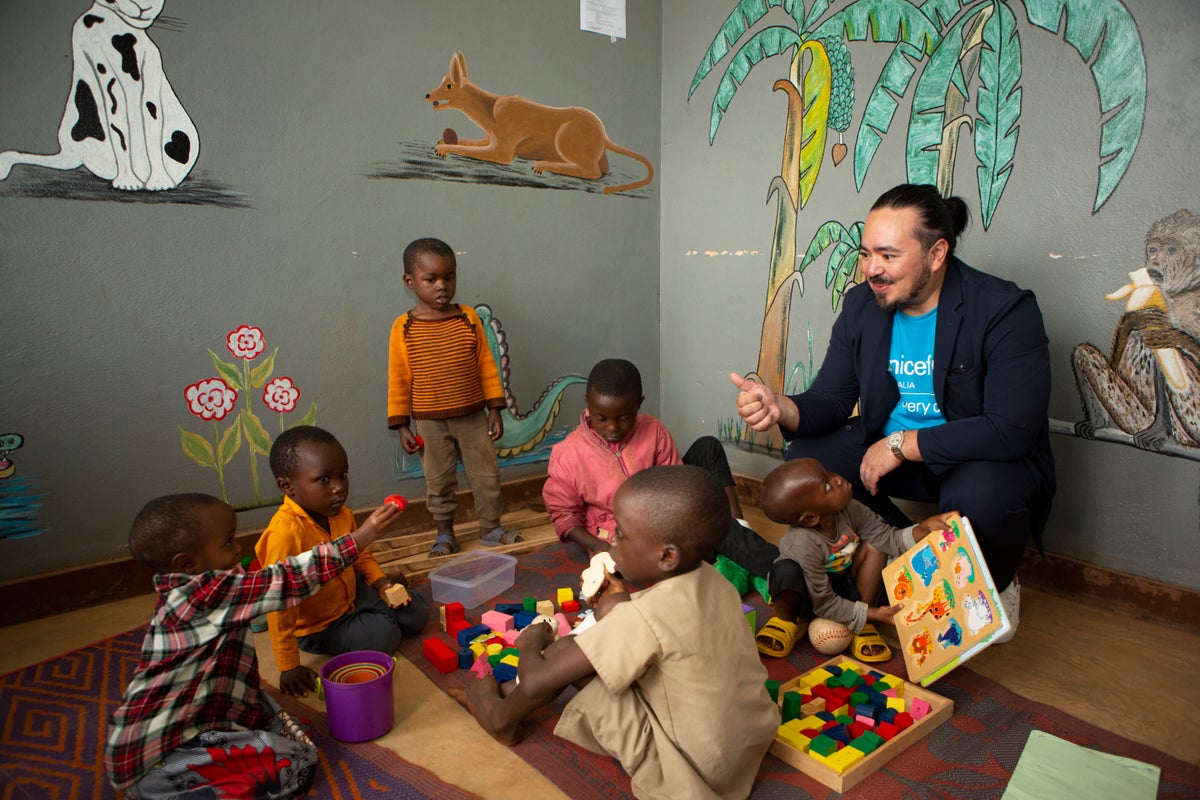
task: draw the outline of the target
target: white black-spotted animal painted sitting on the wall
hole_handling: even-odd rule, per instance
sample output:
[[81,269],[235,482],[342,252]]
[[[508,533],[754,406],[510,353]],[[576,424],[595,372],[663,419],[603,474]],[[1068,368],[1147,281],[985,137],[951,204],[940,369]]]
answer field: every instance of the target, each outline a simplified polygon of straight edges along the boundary
[[0,152],[0,180],[18,164],[86,168],[125,191],[172,190],[200,140],[146,29],[164,0],[96,0],[71,32],[72,76],[59,152]]

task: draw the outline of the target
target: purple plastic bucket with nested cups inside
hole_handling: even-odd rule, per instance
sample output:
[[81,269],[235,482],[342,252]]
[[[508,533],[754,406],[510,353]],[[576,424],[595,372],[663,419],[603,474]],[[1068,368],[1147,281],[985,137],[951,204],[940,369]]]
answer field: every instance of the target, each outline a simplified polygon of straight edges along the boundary
[[394,668],[391,656],[378,650],[353,650],[325,662],[320,687],[334,739],[367,741],[391,730]]

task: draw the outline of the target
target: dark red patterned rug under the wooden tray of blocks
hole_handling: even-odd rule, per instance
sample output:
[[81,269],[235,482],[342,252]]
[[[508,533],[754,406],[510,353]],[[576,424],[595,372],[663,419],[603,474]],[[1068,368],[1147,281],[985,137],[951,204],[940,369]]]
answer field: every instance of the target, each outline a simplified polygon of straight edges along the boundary
[[[470,621],[497,602],[521,602],[524,597],[551,600],[559,587],[578,583],[581,565],[570,561],[562,547],[523,553],[517,561],[515,585],[475,609],[468,609]],[[428,589],[425,584],[424,589]],[[748,595],[760,620],[767,608],[760,597]],[[437,615],[424,637],[440,636]],[[469,670],[443,675],[421,655],[421,637],[409,637],[401,652],[443,690],[463,687],[472,679]],[[455,645],[456,646],[456,645]],[[764,658],[768,673],[778,680],[794,678],[823,661],[811,648],[799,646],[788,658]],[[899,654],[884,672],[904,675]],[[966,667],[960,667],[932,687],[954,700],[954,716],[929,736],[896,756],[846,795],[838,795],[817,781],[803,775],[774,756],[767,756],[752,800],[796,800],[798,798],[870,798],[904,799],[978,799],[995,800],[1004,793],[1013,769],[1033,729],[1044,730],[1068,741],[1105,753],[1135,758],[1162,769],[1159,798],[1200,798],[1200,768],[1166,756],[1140,742],[1102,730],[1043,703],[1036,703],[1006,690]],[[568,690],[554,706],[542,709],[526,722],[526,736],[512,750],[556,783],[565,794],[581,800],[630,798],[629,777],[612,758],[596,756],[553,735]]]

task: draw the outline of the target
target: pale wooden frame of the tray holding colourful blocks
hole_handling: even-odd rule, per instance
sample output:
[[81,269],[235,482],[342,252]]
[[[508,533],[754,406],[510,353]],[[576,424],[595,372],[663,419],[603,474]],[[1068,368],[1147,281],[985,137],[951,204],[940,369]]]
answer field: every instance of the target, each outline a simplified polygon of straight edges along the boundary
[[[842,666],[845,663],[854,664],[863,674],[871,672],[875,667],[862,663],[853,658],[846,656],[836,656],[817,664],[812,669],[820,669],[821,667],[827,667],[829,664]],[[811,669],[809,672],[812,672]],[[882,669],[877,672],[883,672]],[[779,699],[780,705],[782,705],[784,693],[791,691],[799,686],[800,680],[808,673],[797,675],[786,684],[781,684],[779,687]],[[888,673],[884,673],[888,674]],[[799,771],[804,772],[809,777],[820,781],[830,789],[838,793],[844,793],[853,788],[857,783],[870,777],[875,770],[880,769],[893,758],[912,747],[914,744],[929,735],[937,726],[942,724],[954,714],[954,700],[936,694],[928,688],[922,688],[920,686],[912,684],[910,681],[904,682],[904,697],[912,698],[919,697],[920,699],[929,703],[932,709],[928,715],[917,720],[912,723],[912,727],[896,734],[892,741],[884,742],[875,752],[870,753],[863,760],[858,762],[845,772],[838,772],[832,766],[822,764],[816,758],[809,756],[808,753],[797,750],[792,745],[787,744],[780,736],[775,736],[775,741],[770,745],[770,752],[781,760],[787,762]]]

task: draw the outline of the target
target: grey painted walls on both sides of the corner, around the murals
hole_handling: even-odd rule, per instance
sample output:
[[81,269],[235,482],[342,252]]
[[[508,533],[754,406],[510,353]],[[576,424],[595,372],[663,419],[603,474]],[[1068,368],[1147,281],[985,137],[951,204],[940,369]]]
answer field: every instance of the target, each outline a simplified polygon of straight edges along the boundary
[[[559,374],[623,355],[646,374],[647,409],[680,443],[715,433],[733,416],[727,373],[752,369],[757,356],[773,219],[764,200],[785,109],[770,90],[781,60],[754,71],[713,146],[714,79],[686,102],[733,5],[630,2],[629,38],[613,44],[577,30],[575,4],[548,0],[364,0],[336,14],[307,0],[168,0],[164,17],[176,22],[151,36],[199,128],[193,176],[250,207],[20,197],[38,181],[31,168],[0,182],[0,433],[25,437],[12,458],[43,495],[37,522],[47,529],[0,542],[0,579],[122,555],[146,499],[216,492],[214,474],[180,451],[180,427],[204,432],[182,392],[214,374],[209,349],[232,360],[223,337],[240,324],[264,329],[269,349],[280,348],[275,374],[295,380],[301,405],[316,399],[318,423],[346,444],[353,503],[418,494],[419,485],[391,477],[383,378],[388,327],[410,305],[400,251],[418,235],[446,239],[461,253],[458,299],[486,301],[503,320],[523,404]],[[1120,317],[1104,293],[1141,265],[1153,221],[1196,210],[1186,132],[1198,122],[1200,13],[1190,0],[1127,6],[1147,58],[1146,121],[1133,164],[1098,213],[1094,85],[1074,50],[1020,13],[1020,148],[989,230],[965,160],[955,176],[977,212],[961,255],[1038,294],[1055,363],[1050,413],[1064,421],[1081,419],[1072,348],[1092,342],[1106,351]],[[0,6],[0,149],[54,149],[70,29],[84,10],[65,0]],[[424,102],[455,49],[488,89],[595,110],[610,137],[655,162],[646,197],[365,178],[395,163],[402,143],[432,148],[444,127],[473,131],[462,115]],[[886,49],[851,44],[856,119]],[[850,161],[827,163],[800,213],[802,245],[820,222],[863,218],[904,179],[902,164],[894,134],[862,192]],[[619,156],[613,167],[641,174]],[[824,351],[833,312],[822,271],[809,272],[793,306],[793,360],[806,360],[809,326],[816,363]],[[562,423],[574,423],[580,395],[568,392]],[[1052,444],[1061,489],[1050,551],[1200,585],[1200,464],[1066,435]],[[733,449],[731,457],[758,475],[775,463]],[[248,495],[245,451],[227,469],[233,499]],[[268,513],[241,522],[260,524]]]

